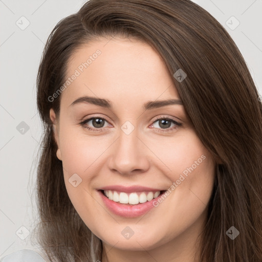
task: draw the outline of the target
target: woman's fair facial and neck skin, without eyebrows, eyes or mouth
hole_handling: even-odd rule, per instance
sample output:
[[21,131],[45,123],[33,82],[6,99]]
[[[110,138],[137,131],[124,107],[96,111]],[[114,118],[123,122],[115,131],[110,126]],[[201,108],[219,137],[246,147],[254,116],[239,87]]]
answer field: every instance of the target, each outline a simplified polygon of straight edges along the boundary
[[[102,240],[102,262],[193,262],[207,218],[215,162],[183,105],[143,110],[148,101],[180,99],[176,80],[146,43],[129,38],[92,41],[71,57],[68,77],[97,49],[101,55],[62,92],[59,118],[50,110],[69,197],[86,226]],[[110,100],[112,108],[71,105],[82,96]],[[80,124],[91,117],[106,121],[101,127],[92,120]],[[166,131],[156,117],[182,125],[171,122]],[[128,135],[121,129],[126,121],[135,127]],[[139,217],[111,212],[96,190],[107,185],[167,190],[202,155],[205,160],[158,207]],[[74,173],[82,179],[77,187],[69,183]],[[134,231],[129,239],[121,234],[126,226]]]

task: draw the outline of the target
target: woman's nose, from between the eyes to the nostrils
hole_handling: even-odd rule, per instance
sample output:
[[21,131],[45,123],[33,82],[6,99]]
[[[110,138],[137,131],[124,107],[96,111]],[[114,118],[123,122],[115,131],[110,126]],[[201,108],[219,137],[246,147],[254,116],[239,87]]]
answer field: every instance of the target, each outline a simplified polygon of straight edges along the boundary
[[119,138],[108,159],[108,167],[112,172],[128,175],[143,173],[149,169],[148,148],[138,138],[135,130],[129,135],[120,130]]

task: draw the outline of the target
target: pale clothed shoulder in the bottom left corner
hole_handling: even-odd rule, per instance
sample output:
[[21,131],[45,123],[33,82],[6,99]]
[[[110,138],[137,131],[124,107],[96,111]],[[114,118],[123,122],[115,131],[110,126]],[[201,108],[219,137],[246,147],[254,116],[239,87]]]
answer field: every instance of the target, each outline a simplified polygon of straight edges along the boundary
[[4,256],[0,262],[46,262],[36,251],[22,249]]

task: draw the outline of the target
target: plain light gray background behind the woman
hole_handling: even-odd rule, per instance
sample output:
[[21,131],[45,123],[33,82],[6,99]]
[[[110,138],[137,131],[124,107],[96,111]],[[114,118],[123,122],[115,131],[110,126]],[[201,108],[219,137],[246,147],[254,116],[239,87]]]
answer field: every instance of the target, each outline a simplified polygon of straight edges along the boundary
[[[36,249],[30,243],[30,232],[38,217],[34,211],[34,159],[42,134],[36,110],[36,74],[51,30],[60,19],[77,12],[84,2],[0,0],[0,257],[23,248]],[[262,0],[193,2],[211,13],[229,32],[261,90]],[[16,21],[20,27],[26,25],[21,16],[30,22],[25,30],[16,25]],[[231,16],[240,23],[234,30],[227,26],[236,25]],[[22,121],[29,126],[24,134],[20,133],[23,129],[19,132],[16,128]]]

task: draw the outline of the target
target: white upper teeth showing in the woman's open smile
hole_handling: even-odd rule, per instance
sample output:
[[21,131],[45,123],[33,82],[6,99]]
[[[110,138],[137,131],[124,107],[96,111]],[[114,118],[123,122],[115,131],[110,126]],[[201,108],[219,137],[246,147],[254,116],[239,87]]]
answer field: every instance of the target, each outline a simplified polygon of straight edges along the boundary
[[126,204],[126,205],[137,205],[145,202],[149,202],[153,199],[159,197],[159,195],[166,192],[166,190],[161,191],[140,191],[140,192],[120,192],[116,190],[99,190],[104,196],[116,203]]

